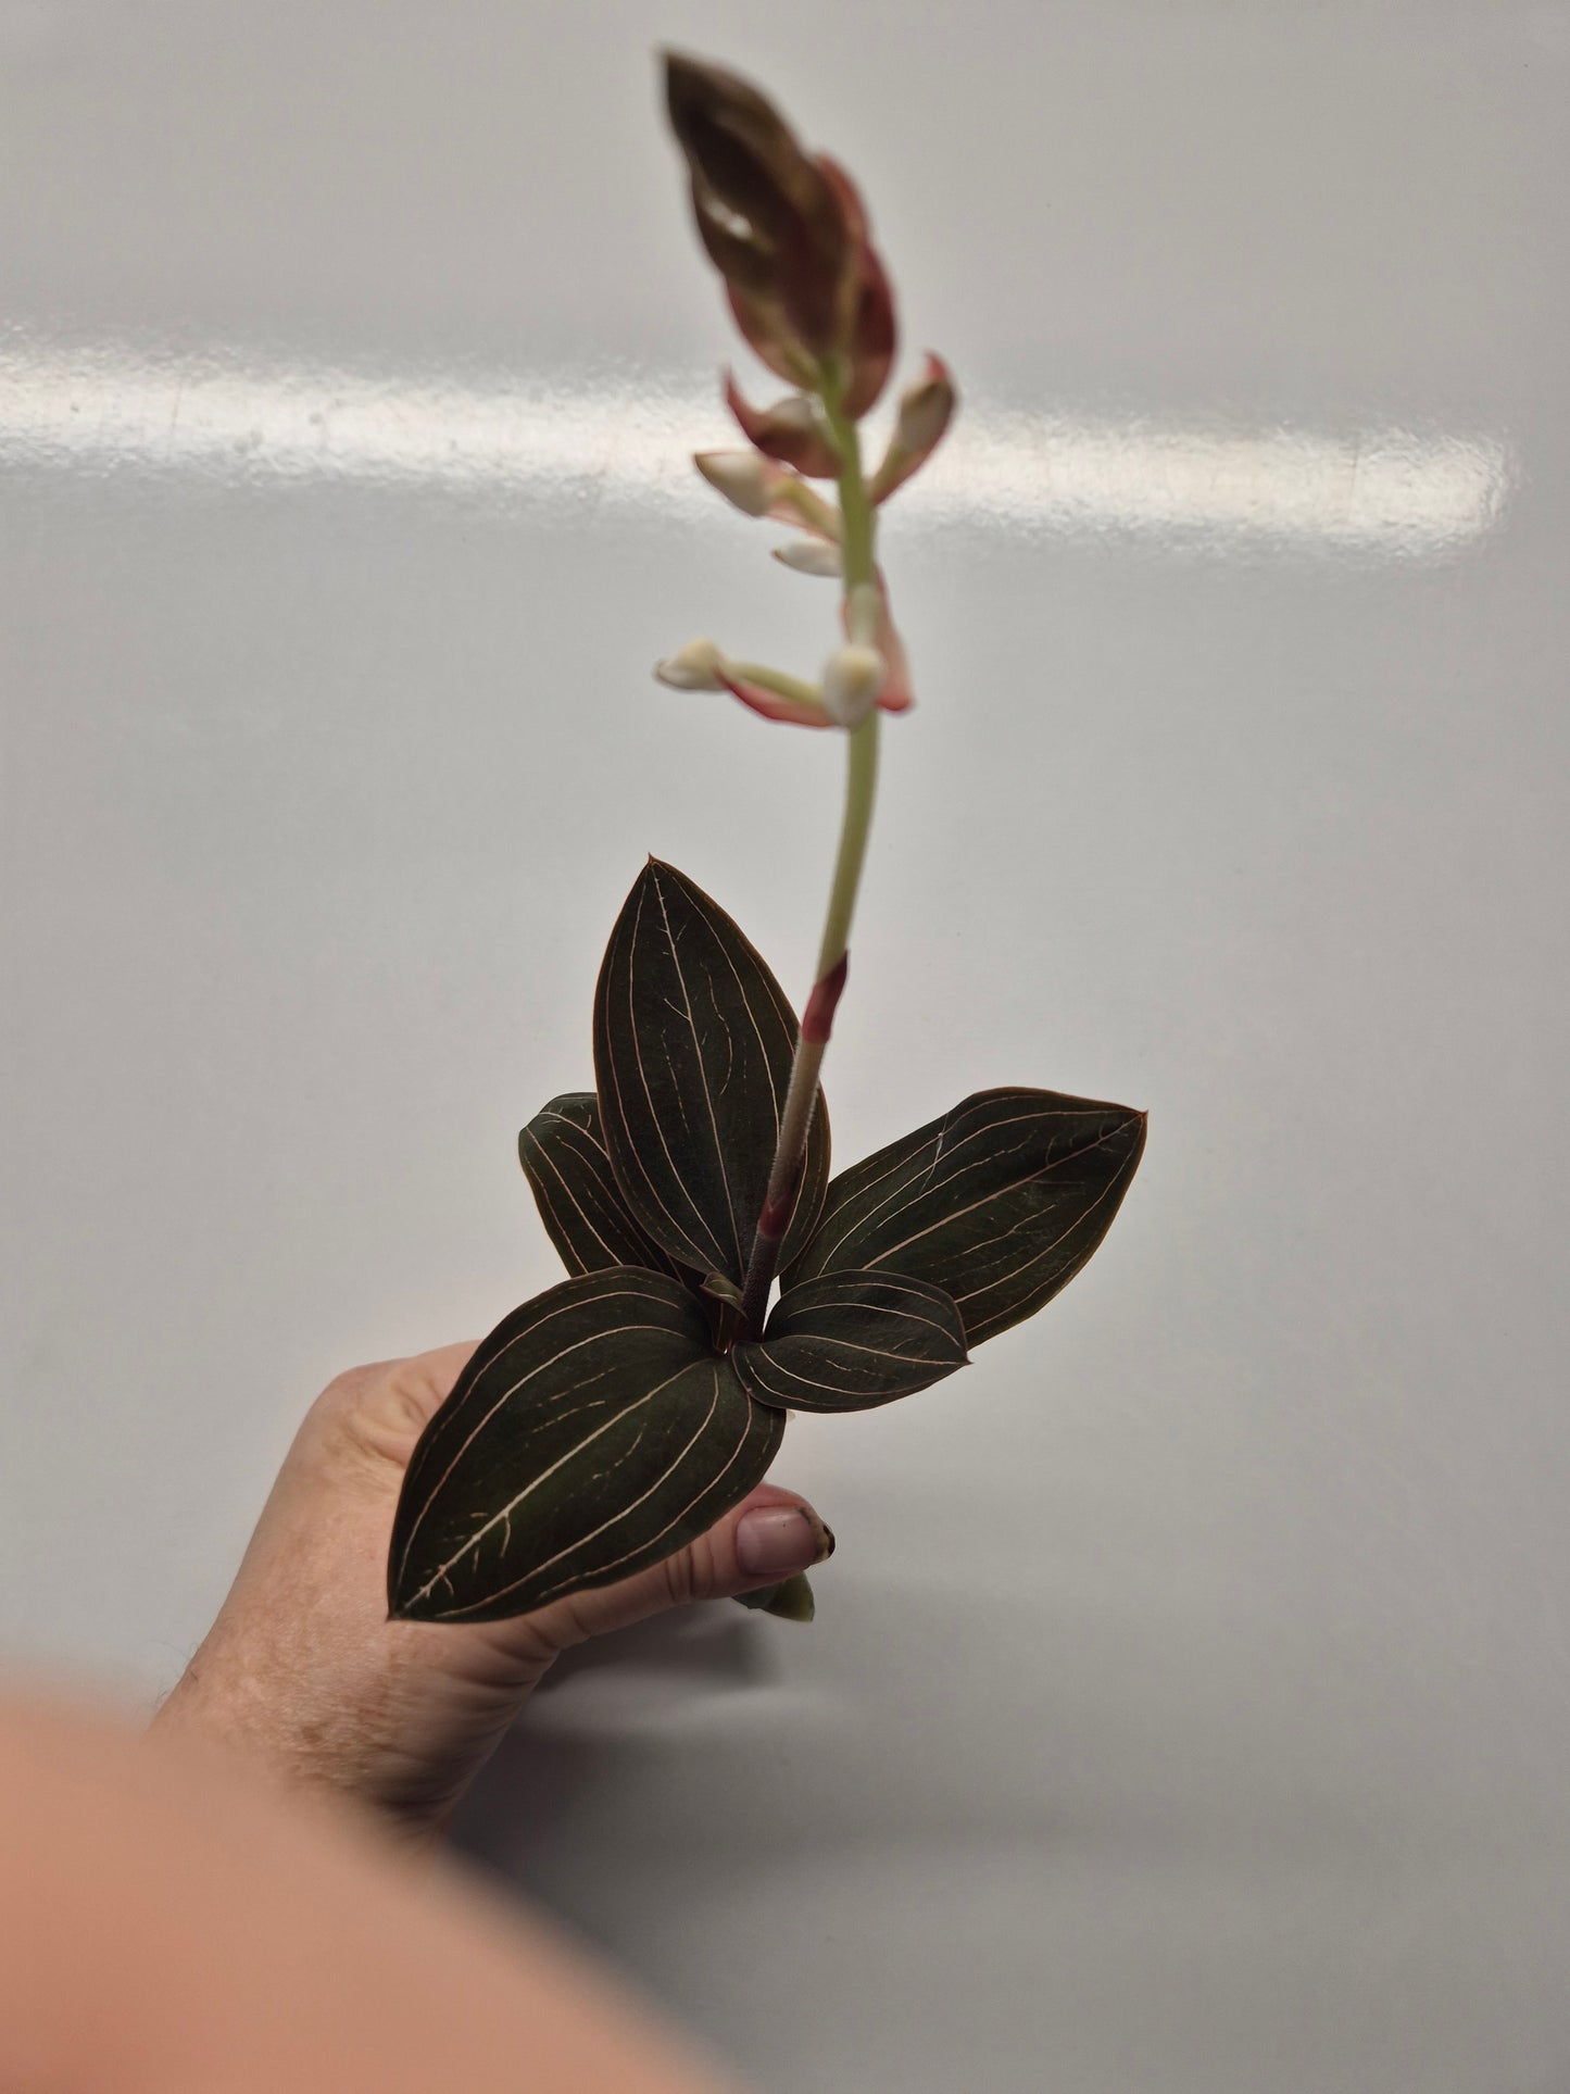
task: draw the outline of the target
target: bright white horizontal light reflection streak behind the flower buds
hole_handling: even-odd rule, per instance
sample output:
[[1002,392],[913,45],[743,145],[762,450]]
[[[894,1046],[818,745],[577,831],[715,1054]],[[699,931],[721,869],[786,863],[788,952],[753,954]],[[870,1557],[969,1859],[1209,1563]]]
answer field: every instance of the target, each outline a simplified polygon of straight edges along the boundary
[[[0,467],[13,471],[421,484],[691,517],[714,496],[687,454],[735,442],[714,392],[661,375],[484,381],[0,343]],[[1507,448],[1486,436],[1239,431],[965,402],[900,494],[900,517],[1432,557],[1493,530],[1511,480]]]

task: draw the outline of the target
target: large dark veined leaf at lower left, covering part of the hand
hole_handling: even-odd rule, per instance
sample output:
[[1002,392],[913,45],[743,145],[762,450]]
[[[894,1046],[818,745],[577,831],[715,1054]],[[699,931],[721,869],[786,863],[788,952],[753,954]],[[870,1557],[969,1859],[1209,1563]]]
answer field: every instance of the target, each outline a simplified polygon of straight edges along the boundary
[[421,1434],[391,1612],[500,1621],[661,1562],[747,1495],[783,1428],[678,1282],[563,1279],[496,1326]]

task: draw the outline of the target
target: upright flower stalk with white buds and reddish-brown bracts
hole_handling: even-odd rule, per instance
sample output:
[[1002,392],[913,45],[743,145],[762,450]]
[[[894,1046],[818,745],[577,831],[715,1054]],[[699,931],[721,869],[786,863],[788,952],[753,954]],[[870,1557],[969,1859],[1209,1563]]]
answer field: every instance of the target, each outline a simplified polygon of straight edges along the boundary
[[[701,452],[697,469],[745,515],[793,524],[804,544],[785,549],[785,563],[837,574],[844,593],[844,645],[825,662],[818,685],[731,662],[718,649],[701,655],[697,670],[689,666],[693,647],[657,670],[680,689],[722,687],[764,718],[846,735],[846,798],[818,967],[737,1309],[739,1340],[756,1342],[802,1187],[818,1070],[846,986],[877,796],[879,712],[911,706],[904,649],[877,572],[877,505],[942,440],[955,387],[948,369],[927,356],[869,477],[858,425],[888,383],[896,320],[856,184],[837,161],[808,153],[775,105],[722,67],[668,52],[666,103],[687,157],[697,230],[724,279],[731,314],[760,360],[795,387],[756,408],[726,373],[724,400],[752,450]],[[810,480],[835,480],[837,507]]]

